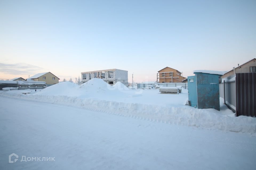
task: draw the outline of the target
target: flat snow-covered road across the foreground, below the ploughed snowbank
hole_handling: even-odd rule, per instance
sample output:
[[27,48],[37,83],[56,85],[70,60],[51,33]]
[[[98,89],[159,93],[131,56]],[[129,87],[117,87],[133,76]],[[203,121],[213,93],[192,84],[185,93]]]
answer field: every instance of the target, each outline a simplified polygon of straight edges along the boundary
[[[256,137],[0,97],[0,169],[255,169]],[[15,153],[17,162],[9,163]],[[55,161],[22,161],[55,157]],[[14,158],[12,158],[13,160]]]

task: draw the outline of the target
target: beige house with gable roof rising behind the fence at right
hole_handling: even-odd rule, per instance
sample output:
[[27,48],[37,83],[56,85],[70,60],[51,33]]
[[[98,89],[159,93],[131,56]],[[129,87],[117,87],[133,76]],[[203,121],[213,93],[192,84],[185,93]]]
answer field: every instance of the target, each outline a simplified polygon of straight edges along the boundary
[[231,75],[234,75],[235,73],[252,73],[252,72],[256,72],[256,58],[250,61],[247,61],[242,65],[238,64],[237,67],[234,67],[232,70],[226,72],[221,78],[229,77]]

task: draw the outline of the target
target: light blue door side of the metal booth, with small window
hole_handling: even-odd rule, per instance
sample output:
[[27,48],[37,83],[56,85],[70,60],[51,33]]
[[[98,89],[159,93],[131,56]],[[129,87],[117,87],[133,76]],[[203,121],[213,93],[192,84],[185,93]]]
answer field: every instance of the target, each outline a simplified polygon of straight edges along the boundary
[[189,91],[189,102],[192,107],[197,108],[197,82],[195,76],[187,77],[187,86]]

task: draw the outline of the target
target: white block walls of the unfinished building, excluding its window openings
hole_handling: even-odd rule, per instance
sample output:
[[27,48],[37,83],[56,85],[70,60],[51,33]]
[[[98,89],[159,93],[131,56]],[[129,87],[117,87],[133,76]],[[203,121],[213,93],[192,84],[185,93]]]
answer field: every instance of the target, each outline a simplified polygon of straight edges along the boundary
[[[113,78],[109,77],[109,72],[113,71]],[[82,82],[85,83],[89,81],[89,74],[91,73],[91,79],[94,78],[94,73],[98,72],[105,72],[105,78],[103,77],[98,77],[102,78],[106,83],[110,85],[114,85],[117,82],[123,83],[126,87],[128,87],[128,71],[126,70],[119,70],[119,69],[108,69],[108,70],[97,70],[97,71],[89,71],[89,72],[82,72],[81,73],[81,78]],[[86,79],[83,79],[83,76],[86,75]]]

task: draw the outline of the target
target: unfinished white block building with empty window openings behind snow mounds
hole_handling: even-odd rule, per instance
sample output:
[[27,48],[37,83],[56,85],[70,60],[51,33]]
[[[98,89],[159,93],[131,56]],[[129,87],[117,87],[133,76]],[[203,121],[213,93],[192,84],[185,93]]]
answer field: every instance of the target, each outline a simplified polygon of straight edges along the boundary
[[128,71],[119,69],[97,70],[82,72],[82,83],[85,83],[93,78],[103,79],[108,84],[115,84],[121,82],[125,86],[128,86]]

